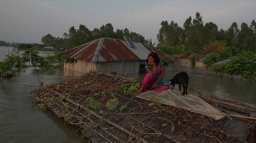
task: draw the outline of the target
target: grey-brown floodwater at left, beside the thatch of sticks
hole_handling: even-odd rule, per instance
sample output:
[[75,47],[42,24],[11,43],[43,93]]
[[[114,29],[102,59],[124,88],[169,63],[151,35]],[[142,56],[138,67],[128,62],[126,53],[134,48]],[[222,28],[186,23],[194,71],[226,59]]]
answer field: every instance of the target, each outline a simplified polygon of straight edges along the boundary
[[38,88],[38,80],[50,84],[68,78],[62,71],[40,74],[29,68],[12,79],[1,79],[0,142],[85,142],[75,127],[31,102],[29,91]]

